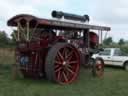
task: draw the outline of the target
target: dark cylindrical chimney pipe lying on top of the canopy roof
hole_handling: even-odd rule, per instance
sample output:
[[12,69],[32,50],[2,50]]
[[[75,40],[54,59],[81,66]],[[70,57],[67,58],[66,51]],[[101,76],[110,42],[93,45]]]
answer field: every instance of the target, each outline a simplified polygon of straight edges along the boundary
[[64,19],[68,19],[68,20],[89,22],[89,16],[88,15],[80,16],[80,15],[65,13],[65,12],[61,12],[61,11],[52,11],[51,15],[52,15],[52,17],[59,18],[59,19],[64,17]]

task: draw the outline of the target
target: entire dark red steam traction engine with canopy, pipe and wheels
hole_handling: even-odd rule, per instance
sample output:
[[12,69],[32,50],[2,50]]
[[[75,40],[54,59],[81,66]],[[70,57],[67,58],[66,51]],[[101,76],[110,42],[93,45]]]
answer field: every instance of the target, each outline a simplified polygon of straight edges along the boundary
[[86,24],[88,15],[53,11],[52,16],[57,19],[21,14],[7,23],[17,28],[16,65],[23,76],[68,84],[76,80],[81,64],[91,66],[94,75],[103,75],[103,60],[91,58],[99,51],[99,36],[91,30],[110,28]]

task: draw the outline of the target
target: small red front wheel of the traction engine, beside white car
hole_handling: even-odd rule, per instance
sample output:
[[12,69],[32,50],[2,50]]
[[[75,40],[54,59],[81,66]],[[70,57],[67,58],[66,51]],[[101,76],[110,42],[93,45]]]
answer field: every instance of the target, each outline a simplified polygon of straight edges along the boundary
[[102,77],[104,75],[104,61],[101,58],[96,58],[93,62],[93,76]]

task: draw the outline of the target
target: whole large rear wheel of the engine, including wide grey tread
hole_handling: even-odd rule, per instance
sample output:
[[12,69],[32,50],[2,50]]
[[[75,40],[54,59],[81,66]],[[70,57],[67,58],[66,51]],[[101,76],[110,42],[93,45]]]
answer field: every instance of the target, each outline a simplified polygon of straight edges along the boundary
[[59,84],[69,84],[76,80],[80,69],[77,49],[66,43],[57,43],[48,52],[45,64],[46,77]]

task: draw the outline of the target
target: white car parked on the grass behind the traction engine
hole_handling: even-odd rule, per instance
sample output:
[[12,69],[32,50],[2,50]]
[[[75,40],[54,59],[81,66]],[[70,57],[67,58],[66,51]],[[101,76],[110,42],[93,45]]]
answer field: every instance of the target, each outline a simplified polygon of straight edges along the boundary
[[128,70],[128,54],[121,51],[120,48],[105,48],[104,51],[94,54],[93,58],[100,57],[105,65],[121,66]]

